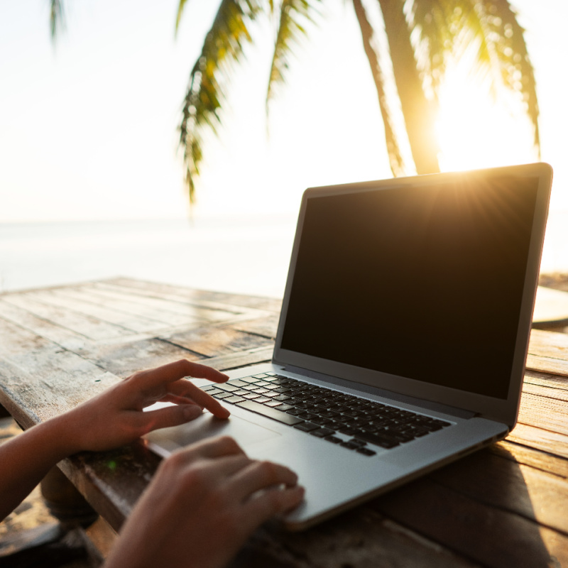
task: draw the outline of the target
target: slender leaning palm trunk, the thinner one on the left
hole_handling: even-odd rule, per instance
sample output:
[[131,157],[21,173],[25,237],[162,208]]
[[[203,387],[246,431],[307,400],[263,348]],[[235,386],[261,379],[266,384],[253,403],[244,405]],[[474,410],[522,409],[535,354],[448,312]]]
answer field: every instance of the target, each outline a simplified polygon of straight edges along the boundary
[[375,87],[378,95],[378,106],[381,110],[381,116],[383,118],[385,129],[385,141],[388,152],[388,161],[391,165],[391,171],[393,172],[393,175],[395,177],[398,175],[404,175],[406,168],[403,155],[400,151],[400,146],[398,145],[398,139],[393,124],[393,117],[391,116],[391,109],[389,107],[388,98],[386,96],[385,77],[383,75],[383,71],[381,70],[378,54],[373,47],[373,45],[377,45],[373,44],[373,26],[371,26],[371,22],[368,20],[367,13],[364,9],[363,4],[361,3],[361,0],[353,0],[353,7],[355,9],[357,21],[359,21],[359,28],[361,28],[361,37],[363,38],[363,48],[365,50],[365,55],[367,56],[368,63],[371,67],[371,74],[373,75],[373,80],[375,82]]

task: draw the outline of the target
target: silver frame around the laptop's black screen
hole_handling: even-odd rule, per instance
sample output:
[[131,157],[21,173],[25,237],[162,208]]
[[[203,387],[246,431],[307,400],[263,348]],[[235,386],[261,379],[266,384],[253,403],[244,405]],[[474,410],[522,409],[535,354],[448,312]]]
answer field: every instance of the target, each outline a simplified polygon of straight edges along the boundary
[[[538,178],[532,233],[530,236],[528,250],[528,262],[525,271],[525,282],[520,305],[520,317],[513,355],[513,364],[511,366],[510,382],[506,398],[493,398],[486,395],[460,391],[457,388],[448,388],[424,381],[405,378],[403,376],[383,373],[381,371],[373,371],[368,368],[361,368],[350,364],[339,363],[337,361],[330,361],[329,359],[321,359],[319,357],[282,348],[281,345],[288,305],[290,302],[290,293],[294,280],[300,239],[302,237],[305,212],[309,200],[327,195],[339,195],[349,192],[366,192],[386,189],[392,190],[397,188],[402,189],[403,187],[426,187],[427,185],[432,184],[455,183],[459,182],[459,180],[463,180],[464,175],[475,175],[481,178],[492,178],[496,175],[512,175],[520,178]],[[353,381],[354,388],[356,388],[356,383],[362,383],[367,386],[392,391],[393,393],[408,395],[414,398],[429,400],[449,405],[454,408],[468,410],[491,420],[503,422],[512,428],[515,425],[518,415],[521,385],[523,383],[525,373],[525,361],[532,324],[532,310],[535,302],[542,245],[544,243],[551,185],[552,168],[550,168],[550,165],[545,163],[536,163],[508,166],[505,168],[474,170],[471,173],[455,172],[420,175],[411,178],[356,182],[352,184],[311,187],[307,189],[302,196],[302,203],[297,221],[297,230],[290,258],[288,280],[285,287],[278,332],[275,339],[273,362],[282,366],[305,368],[308,371],[315,371],[322,375]]]

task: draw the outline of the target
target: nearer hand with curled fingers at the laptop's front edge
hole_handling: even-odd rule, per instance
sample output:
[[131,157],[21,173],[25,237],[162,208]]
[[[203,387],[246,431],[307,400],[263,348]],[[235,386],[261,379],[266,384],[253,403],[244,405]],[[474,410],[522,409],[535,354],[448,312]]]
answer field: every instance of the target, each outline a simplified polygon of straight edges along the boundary
[[104,566],[224,567],[303,496],[290,469],[249,459],[232,438],[206,439],[160,464]]

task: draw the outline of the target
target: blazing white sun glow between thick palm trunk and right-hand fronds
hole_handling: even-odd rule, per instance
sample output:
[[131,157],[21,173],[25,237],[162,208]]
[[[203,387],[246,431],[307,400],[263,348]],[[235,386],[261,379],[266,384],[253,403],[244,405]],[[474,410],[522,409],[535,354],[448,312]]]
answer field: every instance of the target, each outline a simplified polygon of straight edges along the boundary
[[466,65],[447,70],[439,89],[436,133],[442,171],[534,162],[538,153],[518,94],[476,80]]

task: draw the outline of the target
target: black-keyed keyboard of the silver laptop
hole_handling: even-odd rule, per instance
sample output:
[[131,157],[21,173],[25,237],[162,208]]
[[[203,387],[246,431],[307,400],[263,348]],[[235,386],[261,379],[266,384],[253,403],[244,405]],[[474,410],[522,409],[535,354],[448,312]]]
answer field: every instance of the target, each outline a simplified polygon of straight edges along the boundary
[[208,385],[203,390],[224,403],[246,408],[365,456],[376,454],[373,446],[391,449],[450,425],[444,420],[276,373]]

